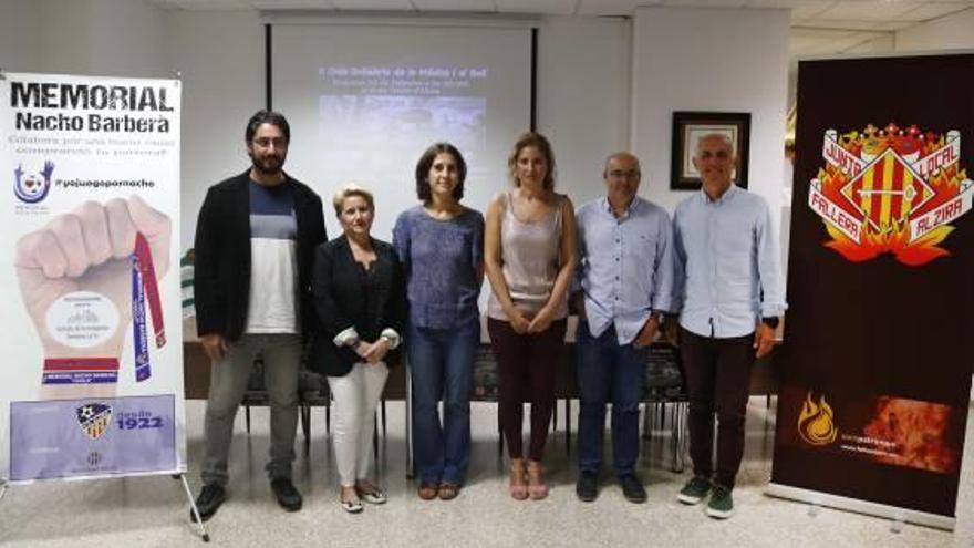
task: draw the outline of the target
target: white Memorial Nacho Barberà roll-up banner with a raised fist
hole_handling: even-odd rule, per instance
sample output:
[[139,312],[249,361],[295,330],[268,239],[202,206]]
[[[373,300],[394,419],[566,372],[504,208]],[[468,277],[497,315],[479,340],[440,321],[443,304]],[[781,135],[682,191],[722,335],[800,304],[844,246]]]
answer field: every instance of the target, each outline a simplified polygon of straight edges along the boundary
[[0,74],[0,478],[186,469],[179,82]]

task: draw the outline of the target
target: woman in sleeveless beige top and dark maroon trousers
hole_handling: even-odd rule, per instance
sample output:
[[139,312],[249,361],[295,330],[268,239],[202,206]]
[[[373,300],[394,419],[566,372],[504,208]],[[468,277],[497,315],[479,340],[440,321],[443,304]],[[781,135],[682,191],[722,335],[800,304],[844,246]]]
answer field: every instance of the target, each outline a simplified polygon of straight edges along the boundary
[[[555,192],[555,154],[543,135],[521,135],[508,166],[515,187],[495,196],[487,209],[484,257],[493,289],[487,329],[497,353],[510,495],[541,499],[548,496],[541,459],[576,266],[574,208],[568,196]],[[527,466],[522,402],[531,404]]]

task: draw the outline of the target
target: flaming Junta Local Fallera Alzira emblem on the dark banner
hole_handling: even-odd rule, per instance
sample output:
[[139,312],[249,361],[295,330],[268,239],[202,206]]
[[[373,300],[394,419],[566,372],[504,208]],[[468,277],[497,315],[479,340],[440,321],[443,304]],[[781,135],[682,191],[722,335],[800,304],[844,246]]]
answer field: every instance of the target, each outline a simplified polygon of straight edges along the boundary
[[961,165],[961,134],[869,125],[825,133],[826,164],[808,188],[835,249],[853,262],[892,254],[919,267],[950,251],[940,244],[967,214],[974,183]]

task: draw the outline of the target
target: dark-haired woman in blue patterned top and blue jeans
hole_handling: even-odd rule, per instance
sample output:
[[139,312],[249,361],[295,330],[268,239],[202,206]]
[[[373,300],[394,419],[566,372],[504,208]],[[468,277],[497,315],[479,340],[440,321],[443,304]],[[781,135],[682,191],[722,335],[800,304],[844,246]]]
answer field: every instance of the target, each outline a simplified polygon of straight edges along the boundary
[[[467,164],[448,143],[416,164],[422,201],[396,219],[393,242],[407,279],[419,498],[453,499],[470,461],[470,384],[480,343],[484,217],[460,204]],[[441,421],[437,402],[443,400]]]

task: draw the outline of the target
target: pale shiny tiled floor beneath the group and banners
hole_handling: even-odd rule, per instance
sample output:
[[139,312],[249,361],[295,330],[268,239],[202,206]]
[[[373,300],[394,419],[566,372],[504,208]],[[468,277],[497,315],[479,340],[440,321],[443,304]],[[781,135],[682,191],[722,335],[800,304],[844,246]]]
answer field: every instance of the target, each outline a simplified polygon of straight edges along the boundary
[[[188,402],[190,484],[198,488],[204,404]],[[577,410],[578,406],[574,406]],[[774,413],[764,399],[748,410],[747,453],[735,489],[737,515],[708,519],[701,507],[675,500],[690,472],[670,472],[665,435],[646,442],[641,474],[650,500],[633,505],[609,482],[595,503],[576,499],[574,469],[566,455],[562,432],[549,441],[551,496],[543,502],[515,502],[507,496],[497,459],[496,407],[474,405],[474,455],[470,477],[450,503],[422,502],[415,483],[405,478],[403,404],[390,403],[390,436],[380,457],[381,480],[390,494],[382,507],[358,516],[338,505],[336,477],[324,412],[313,414],[311,456],[299,456],[296,484],[304,509],[281,510],[263,475],[267,410],[252,412],[253,432],[244,432],[242,413],[230,461],[229,500],[207,523],[211,545],[331,546],[422,548],[479,546],[734,546],[734,547],[974,547],[974,421],[968,420],[957,529],[953,534],[891,523],[869,516],[809,506],[764,495],[770,474]],[[974,416],[972,416],[974,418]],[[561,418],[563,420],[563,417]],[[299,443],[301,435],[299,434]],[[187,519],[182,484],[168,476],[95,482],[45,483],[12,487],[0,502],[0,544],[4,546],[203,546]]]

